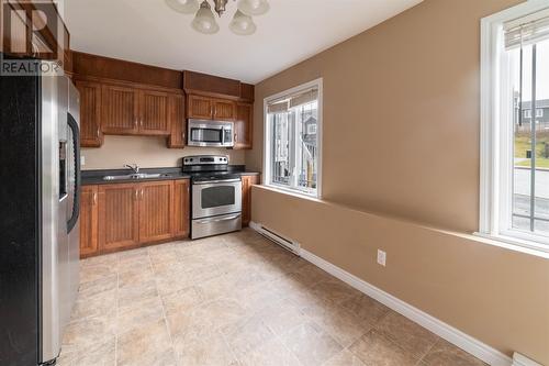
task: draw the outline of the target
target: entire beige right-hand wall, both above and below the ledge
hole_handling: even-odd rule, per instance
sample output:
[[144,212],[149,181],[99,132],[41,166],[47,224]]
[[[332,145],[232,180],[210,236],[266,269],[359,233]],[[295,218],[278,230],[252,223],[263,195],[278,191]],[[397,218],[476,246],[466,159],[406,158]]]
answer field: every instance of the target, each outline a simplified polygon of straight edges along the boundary
[[[253,220],[497,350],[549,365],[549,262],[463,236],[479,221],[480,19],[519,2],[426,0],[260,82],[246,164],[261,169],[264,99],[323,77],[325,201],[256,188]],[[388,249],[384,270],[378,247]]]

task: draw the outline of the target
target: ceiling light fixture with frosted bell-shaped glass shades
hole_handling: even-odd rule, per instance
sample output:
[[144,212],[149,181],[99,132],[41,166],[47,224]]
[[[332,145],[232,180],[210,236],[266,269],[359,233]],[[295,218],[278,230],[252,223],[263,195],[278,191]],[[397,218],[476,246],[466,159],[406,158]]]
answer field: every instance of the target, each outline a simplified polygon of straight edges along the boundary
[[[165,0],[175,11],[183,14],[193,14],[192,27],[203,34],[215,34],[220,26],[215,21],[215,15],[209,0],[203,0],[200,5],[198,0]],[[229,0],[210,0],[217,16],[222,16],[227,10]],[[236,0],[233,0],[236,1]],[[237,9],[228,29],[237,35],[251,35],[256,33],[257,26],[251,16],[262,15],[270,9],[267,0],[238,0]]]

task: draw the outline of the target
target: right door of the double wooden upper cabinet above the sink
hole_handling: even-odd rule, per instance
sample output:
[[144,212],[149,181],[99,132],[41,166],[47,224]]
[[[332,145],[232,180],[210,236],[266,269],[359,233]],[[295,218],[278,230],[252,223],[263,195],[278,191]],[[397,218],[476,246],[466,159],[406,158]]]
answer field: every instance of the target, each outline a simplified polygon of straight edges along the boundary
[[163,91],[141,91],[141,135],[168,135],[168,93]]

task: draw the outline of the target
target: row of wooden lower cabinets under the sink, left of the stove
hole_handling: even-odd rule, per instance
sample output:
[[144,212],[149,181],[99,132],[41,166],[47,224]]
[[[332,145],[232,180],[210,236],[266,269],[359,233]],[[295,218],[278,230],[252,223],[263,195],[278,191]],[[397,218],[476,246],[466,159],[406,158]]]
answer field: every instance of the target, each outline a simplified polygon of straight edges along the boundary
[[189,236],[190,181],[83,186],[80,257]]

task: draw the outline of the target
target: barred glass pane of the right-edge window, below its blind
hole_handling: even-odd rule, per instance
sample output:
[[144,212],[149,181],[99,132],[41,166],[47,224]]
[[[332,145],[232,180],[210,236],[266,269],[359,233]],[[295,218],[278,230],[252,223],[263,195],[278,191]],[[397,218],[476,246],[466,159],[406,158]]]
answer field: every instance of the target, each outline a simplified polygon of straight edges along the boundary
[[508,56],[514,106],[512,225],[549,236],[549,40],[509,51]]

